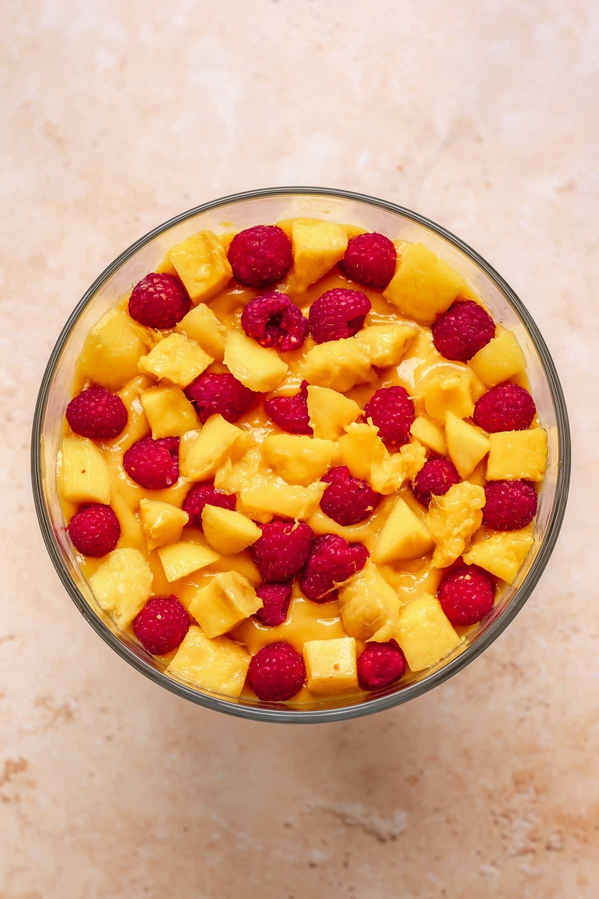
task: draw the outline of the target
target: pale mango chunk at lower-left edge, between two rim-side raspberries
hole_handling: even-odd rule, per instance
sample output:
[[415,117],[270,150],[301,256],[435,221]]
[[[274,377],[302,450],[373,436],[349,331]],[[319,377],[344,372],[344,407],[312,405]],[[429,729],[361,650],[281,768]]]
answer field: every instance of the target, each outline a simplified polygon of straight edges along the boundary
[[93,595],[117,627],[127,628],[152,592],[150,565],[138,549],[113,549],[90,578]]

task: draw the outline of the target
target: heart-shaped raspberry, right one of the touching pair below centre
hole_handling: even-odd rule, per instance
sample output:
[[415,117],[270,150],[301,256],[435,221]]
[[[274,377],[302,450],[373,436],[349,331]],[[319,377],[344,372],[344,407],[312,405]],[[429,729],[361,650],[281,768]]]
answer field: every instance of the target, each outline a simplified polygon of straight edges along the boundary
[[337,534],[317,537],[300,581],[302,592],[316,602],[331,600],[330,593],[339,583],[364,568],[368,556],[368,550],[361,543],[348,543]]

